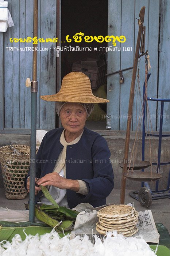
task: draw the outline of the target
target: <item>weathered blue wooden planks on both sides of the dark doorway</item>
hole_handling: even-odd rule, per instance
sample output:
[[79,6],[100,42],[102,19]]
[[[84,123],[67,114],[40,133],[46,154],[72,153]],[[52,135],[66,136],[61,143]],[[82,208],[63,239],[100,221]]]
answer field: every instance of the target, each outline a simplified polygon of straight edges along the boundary
[[[38,37],[56,37],[57,1],[38,1]],[[132,52],[108,52],[108,73],[133,66],[136,38],[138,34],[139,11],[146,7],[144,25],[146,26],[146,46],[151,62],[151,77],[148,82],[148,96],[170,98],[170,1],[161,0],[109,0],[108,35],[125,35],[124,44],[118,47],[131,47]],[[31,116],[30,88],[25,87],[27,77],[32,79],[32,52],[9,52],[7,46],[30,46],[28,43],[9,42],[9,38],[32,37],[33,1],[9,1],[14,27],[6,33],[0,33],[0,130],[3,133],[29,133]],[[159,12],[161,13],[160,51],[158,52]],[[111,25],[111,26],[110,26]],[[112,46],[112,42],[108,44]],[[38,44],[38,47],[55,47],[54,43]],[[158,58],[159,56],[159,58]],[[158,68],[159,65],[159,68]],[[119,83],[119,73],[108,76],[107,114],[111,115],[111,129],[125,130],[132,69],[123,72],[124,83]],[[143,87],[145,76],[144,57],[140,61],[140,84]],[[110,86],[112,84],[112,87]],[[38,102],[37,129],[55,128],[55,106],[53,102],[41,100],[40,95],[56,93],[56,53],[53,50],[38,52]],[[136,129],[138,113],[137,101],[134,100],[132,129]],[[155,102],[149,102],[152,129],[156,129]],[[158,105],[158,126],[160,107]],[[163,130],[170,131],[170,104],[165,104]],[[151,127],[150,127],[151,128]]]

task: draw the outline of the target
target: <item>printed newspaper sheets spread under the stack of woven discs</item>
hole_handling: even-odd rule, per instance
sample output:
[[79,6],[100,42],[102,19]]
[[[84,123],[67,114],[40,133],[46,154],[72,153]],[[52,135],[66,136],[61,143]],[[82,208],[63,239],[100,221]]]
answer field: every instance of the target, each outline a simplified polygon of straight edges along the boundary
[[[96,231],[96,222],[98,221],[97,210],[97,208],[89,208],[81,211],[77,215],[74,230],[71,231],[71,234],[80,236],[87,234],[92,242],[94,242],[94,234],[102,238],[103,236]],[[146,242],[159,242],[159,233],[150,210],[139,212],[136,226],[138,227],[138,232],[133,237],[142,236]]]

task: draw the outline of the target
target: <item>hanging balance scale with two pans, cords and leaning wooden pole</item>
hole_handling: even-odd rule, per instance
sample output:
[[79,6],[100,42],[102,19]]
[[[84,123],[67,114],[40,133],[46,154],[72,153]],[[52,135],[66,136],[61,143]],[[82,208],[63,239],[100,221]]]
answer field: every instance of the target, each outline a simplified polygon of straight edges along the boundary
[[[140,94],[140,84],[139,84],[139,67],[138,67],[138,94],[140,95],[141,98],[141,106],[142,109],[140,110],[140,115],[139,117],[143,117],[143,110],[144,110],[144,102],[146,101],[146,107],[147,107],[147,115],[149,115],[149,110],[148,110],[148,103],[147,103],[147,73],[148,73],[148,66],[150,65],[149,63],[149,56],[148,56],[148,50],[144,52],[144,45],[145,45],[145,27],[143,26],[144,22],[144,13],[145,13],[145,7],[143,6],[140,10],[139,17],[138,19],[138,25],[139,25],[139,31],[138,31],[138,38],[137,38],[137,43],[136,43],[136,51],[135,51],[135,59],[134,59],[134,69],[132,72],[132,80],[131,80],[131,89],[130,89],[130,98],[129,98],[129,107],[128,107],[128,118],[127,118],[127,130],[126,130],[126,137],[125,137],[125,147],[124,147],[124,160],[119,164],[119,166],[123,169],[122,171],[122,178],[121,178],[121,193],[120,193],[120,204],[124,204],[124,199],[125,199],[125,184],[126,184],[126,178],[134,181],[140,181],[140,182],[148,182],[148,181],[155,181],[158,180],[159,178],[162,177],[162,175],[158,173],[152,172],[152,161],[151,161],[151,143],[150,143],[150,161],[138,161],[135,160],[136,152],[137,152],[137,147],[136,147],[136,152],[135,152],[135,142],[136,142],[136,137],[138,135],[139,138],[139,133],[138,133],[138,128],[140,128],[141,121],[139,119],[138,121],[138,128],[136,129],[136,135],[135,135],[135,142],[134,146],[132,149],[131,153],[131,158],[129,159],[128,153],[129,153],[129,144],[130,144],[130,132],[131,132],[131,119],[132,119],[132,111],[133,111],[133,105],[134,105],[134,95],[135,95],[135,80],[136,80],[136,72],[137,72],[137,66],[138,63],[140,62],[140,57],[145,56],[145,95],[142,101],[141,94]],[[141,44],[140,44],[141,42]],[[140,46],[141,45],[141,46]],[[139,54],[139,50],[140,53]],[[137,87],[137,86],[136,86]],[[136,107],[137,109],[137,107]],[[150,116],[148,116],[148,120],[150,120]],[[150,120],[151,121],[151,120]],[[146,125],[146,123],[145,123]],[[138,139],[139,141],[139,139]],[[155,150],[156,151],[156,150]],[[134,159],[132,159],[132,155]],[[150,172],[144,172],[143,169],[151,167]],[[138,171],[142,170],[142,171]]]

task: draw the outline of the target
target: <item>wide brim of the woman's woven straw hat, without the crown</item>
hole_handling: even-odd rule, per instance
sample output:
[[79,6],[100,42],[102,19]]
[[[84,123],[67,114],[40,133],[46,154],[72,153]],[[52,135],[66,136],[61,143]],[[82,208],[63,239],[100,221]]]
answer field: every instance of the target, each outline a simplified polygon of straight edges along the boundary
[[44,95],[40,96],[41,99],[44,99],[45,101],[61,101],[61,102],[78,102],[78,103],[106,103],[109,102],[108,99],[103,99],[96,97],[94,95],[81,95],[78,97],[78,95],[71,95],[69,93],[63,95],[62,93],[56,93],[53,95]]

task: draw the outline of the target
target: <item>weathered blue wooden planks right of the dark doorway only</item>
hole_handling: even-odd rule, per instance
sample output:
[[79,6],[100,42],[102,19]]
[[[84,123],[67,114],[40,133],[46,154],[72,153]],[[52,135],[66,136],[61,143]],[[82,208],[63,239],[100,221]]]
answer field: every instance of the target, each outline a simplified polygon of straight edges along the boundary
[[[170,65],[170,23],[168,18],[170,16],[170,1],[168,0],[161,0],[160,55],[158,52],[159,0],[109,0],[108,35],[124,35],[127,40],[123,44],[117,42],[116,46],[121,47],[121,51],[108,52],[108,73],[133,66],[139,28],[138,21],[135,18],[139,18],[142,6],[146,7],[144,18],[144,26],[146,26],[145,50],[148,49],[151,62],[151,77],[148,82],[147,94],[148,97],[153,98],[170,98],[170,85],[167,82],[170,75],[168,68]],[[112,46],[112,42],[108,43],[108,46]],[[123,46],[132,47],[132,52],[123,52]],[[119,83],[119,73],[109,75],[107,80],[107,98],[110,100],[107,105],[107,114],[111,116],[112,130],[126,130],[132,69],[124,71],[123,76],[124,83],[122,84]],[[145,59],[142,57],[140,61],[140,86],[142,93],[144,79]],[[139,117],[139,110],[136,112],[136,109],[139,109],[138,102],[139,100],[135,97],[131,125],[131,129],[134,131],[136,130]],[[148,102],[148,105],[151,117],[151,124],[148,122],[148,128],[150,130],[152,128],[155,131],[157,125],[157,104],[152,101]],[[158,114],[159,112],[158,106]],[[170,114],[169,103],[165,106],[165,112],[167,118],[164,120],[163,131],[170,131],[170,118],[168,118]]]

